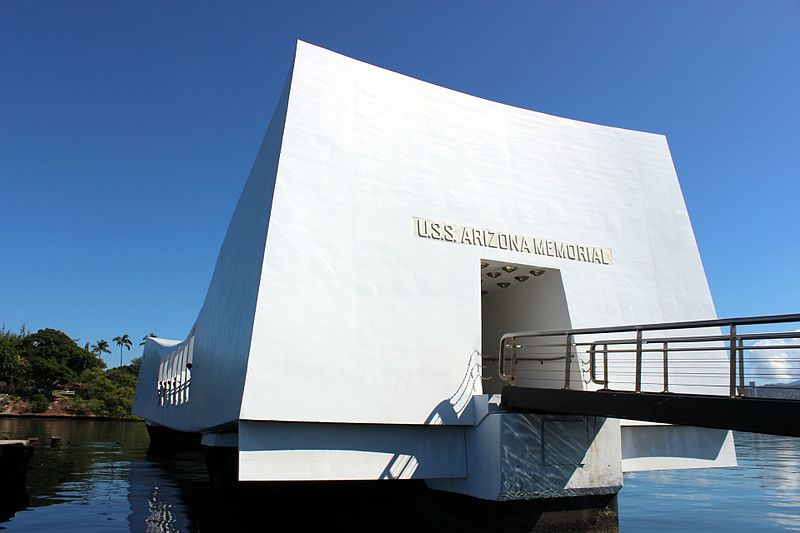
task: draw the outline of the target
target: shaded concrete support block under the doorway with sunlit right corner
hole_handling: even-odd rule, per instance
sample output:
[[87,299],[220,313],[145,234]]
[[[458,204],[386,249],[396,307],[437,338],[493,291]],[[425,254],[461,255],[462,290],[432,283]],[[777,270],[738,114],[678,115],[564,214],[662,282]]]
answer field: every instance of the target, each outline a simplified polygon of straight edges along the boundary
[[619,423],[585,416],[509,413],[477,396],[466,429],[468,476],[428,485],[487,500],[616,494],[622,488]]

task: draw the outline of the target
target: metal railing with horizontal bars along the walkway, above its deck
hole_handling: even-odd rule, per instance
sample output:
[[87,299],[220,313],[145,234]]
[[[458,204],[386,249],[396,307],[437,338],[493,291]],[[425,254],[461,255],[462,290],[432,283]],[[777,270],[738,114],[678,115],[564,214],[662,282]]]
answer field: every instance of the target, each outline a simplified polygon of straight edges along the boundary
[[512,385],[800,399],[800,314],[507,333],[497,365]]

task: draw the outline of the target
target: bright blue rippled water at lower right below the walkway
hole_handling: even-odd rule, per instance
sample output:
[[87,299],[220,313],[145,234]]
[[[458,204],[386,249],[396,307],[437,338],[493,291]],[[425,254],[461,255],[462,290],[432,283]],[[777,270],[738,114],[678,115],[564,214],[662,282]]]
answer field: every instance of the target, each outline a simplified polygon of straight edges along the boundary
[[620,531],[800,531],[800,439],[734,437],[738,468],[626,474]]

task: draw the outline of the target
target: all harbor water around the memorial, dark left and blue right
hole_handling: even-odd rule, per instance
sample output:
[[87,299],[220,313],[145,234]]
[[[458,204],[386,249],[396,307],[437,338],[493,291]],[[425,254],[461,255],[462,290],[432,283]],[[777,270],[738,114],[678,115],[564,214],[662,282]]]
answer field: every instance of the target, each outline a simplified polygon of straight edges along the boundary
[[[63,446],[50,448],[52,435]],[[28,471],[29,506],[0,523],[8,531],[283,529],[282,516],[301,530],[469,532],[535,522],[530,508],[465,506],[418,482],[215,488],[200,451],[149,455],[141,423],[0,419],[0,436],[40,439]],[[800,439],[737,434],[736,444],[737,469],[626,475],[620,530],[800,531]]]

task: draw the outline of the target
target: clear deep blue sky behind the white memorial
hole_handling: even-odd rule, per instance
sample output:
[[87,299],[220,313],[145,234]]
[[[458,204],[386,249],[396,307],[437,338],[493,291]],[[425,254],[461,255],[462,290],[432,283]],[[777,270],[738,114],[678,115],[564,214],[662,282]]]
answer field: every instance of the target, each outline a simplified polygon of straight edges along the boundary
[[800,311],[797,1],[0,0],[0,323],[183,338],[298,38],[666,134],[718,314]]

